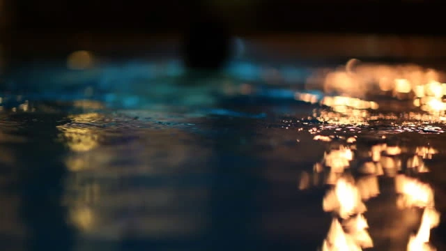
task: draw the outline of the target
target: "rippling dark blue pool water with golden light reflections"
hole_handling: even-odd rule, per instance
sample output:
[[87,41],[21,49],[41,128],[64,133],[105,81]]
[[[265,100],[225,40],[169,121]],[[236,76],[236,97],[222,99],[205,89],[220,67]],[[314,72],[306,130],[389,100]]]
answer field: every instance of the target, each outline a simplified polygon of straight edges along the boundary
[[3,95],[2,250],[445,250],[440,109],[259,84],[247,64],[171,67],[131,82],[49,68],[51,88]]

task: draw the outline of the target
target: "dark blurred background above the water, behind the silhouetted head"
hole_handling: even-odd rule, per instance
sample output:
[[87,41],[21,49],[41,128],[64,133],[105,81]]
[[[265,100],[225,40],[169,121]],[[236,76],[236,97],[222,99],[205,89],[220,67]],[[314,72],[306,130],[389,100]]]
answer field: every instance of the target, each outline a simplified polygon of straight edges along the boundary
[[0,6],[5,62],[75,50],[141,54],[155,43],[175,46],[205,16],[265,45],[262,53],[446,58],[445,9],[435,0],[0,0]]

